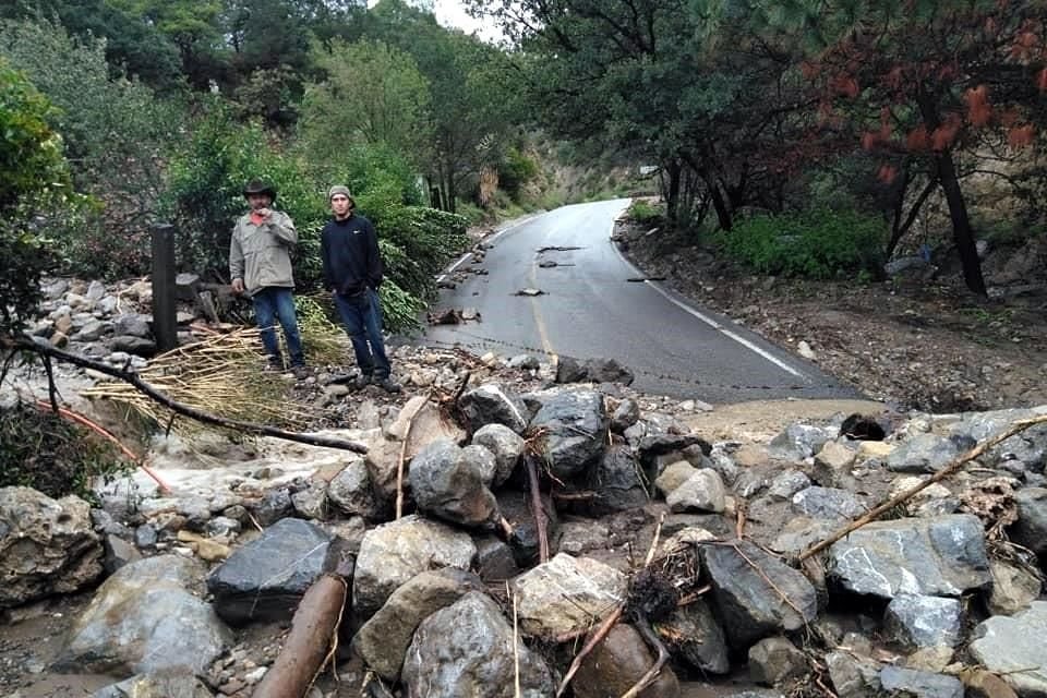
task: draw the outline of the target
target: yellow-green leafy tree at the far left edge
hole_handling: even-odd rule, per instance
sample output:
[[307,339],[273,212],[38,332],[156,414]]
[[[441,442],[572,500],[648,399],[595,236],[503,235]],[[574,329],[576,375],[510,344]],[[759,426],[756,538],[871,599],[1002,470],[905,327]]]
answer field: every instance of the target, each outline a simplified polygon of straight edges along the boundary
[[47,98],[0,58],[0,337],[23,328],[40,300],[40,274],[55,262],[34,218],[71,194],[51,113]]

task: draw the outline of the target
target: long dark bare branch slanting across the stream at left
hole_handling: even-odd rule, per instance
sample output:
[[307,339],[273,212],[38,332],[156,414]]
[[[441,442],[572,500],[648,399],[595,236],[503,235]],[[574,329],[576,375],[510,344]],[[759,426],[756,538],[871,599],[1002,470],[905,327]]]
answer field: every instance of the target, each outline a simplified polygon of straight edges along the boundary
[[222,426],[226,429],[232,429],[238,432],[245,434],[254,434],[256,436],[272,436],[274,438],[282,438],[284,441],[292,441],[299,444],[306,444],[309,446],[321,446],[323,448],[336,448],[339,450],[351,450],[358,454],[368,453],[368,447],[363,444],[344,441],[341,438],[330,438],[327,436],[315,436],[311,434],[301,434],[298,432],[289,432],[282,429],[276,429],[275,426],[267,426],[265,424],[255,424],[254,422],[244,422],[241,420],[227,419],[225,417],[219,417],[217,414],[212,414],[210,412],[205,412],[198,410],[194,407],[183,405],[178,400],[171,398],[168,395],[157,390],[152,385],[143,381],[136,373],[132,371],[125,371],[122,369],[115,369],[107,363],[101,363],[100,361],[93,361],[85,357],[80,357],[74,353],[69,353],[68,351],[62,351],[51,347],[50,345],[44,345],[32,339],[15,339],[8,340],[7,346],[9,349],[14,349],[17,351],[32,351],[41,357],[51,357],[58,359],[59,361],[64,361],[65,363],[71,363],[75,366],[82,369],[91,369],[103,373],[105,375],[118,378],[134,386],[140,393],[148,397],[149,399],[159,402],[169,410],[188,417],[197,422],[204,424],[210,424],[213,426]]

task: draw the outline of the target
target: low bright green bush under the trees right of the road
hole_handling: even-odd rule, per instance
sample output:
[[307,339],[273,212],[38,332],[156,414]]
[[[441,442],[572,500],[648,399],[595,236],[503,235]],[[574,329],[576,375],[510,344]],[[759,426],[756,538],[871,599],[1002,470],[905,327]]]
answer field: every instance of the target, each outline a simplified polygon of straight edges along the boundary
[[821,208],[739,220],[715,242],[760,274],[828,279],[874,272],[882,264],[882,220],[854,210]]

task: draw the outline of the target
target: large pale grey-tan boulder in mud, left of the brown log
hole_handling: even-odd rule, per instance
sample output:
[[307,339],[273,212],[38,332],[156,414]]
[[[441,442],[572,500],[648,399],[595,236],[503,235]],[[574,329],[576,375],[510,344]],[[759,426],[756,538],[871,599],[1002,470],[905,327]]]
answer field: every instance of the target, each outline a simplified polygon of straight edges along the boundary
[[73,624],[55,669],[133,676],[184,666],[205,674],[233,637],[190,591],[202,576],[195,562],[177,555],[121,567]]

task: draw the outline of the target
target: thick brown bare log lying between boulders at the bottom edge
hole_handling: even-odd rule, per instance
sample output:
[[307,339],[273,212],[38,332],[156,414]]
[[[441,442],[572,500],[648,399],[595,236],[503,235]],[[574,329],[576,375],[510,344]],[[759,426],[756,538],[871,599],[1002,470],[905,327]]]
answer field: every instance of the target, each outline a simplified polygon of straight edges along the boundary
[[323,575],[302,597],[284,649],[265,673],[254,698],[301,698],[334,655],[348,595],[346,580]]

